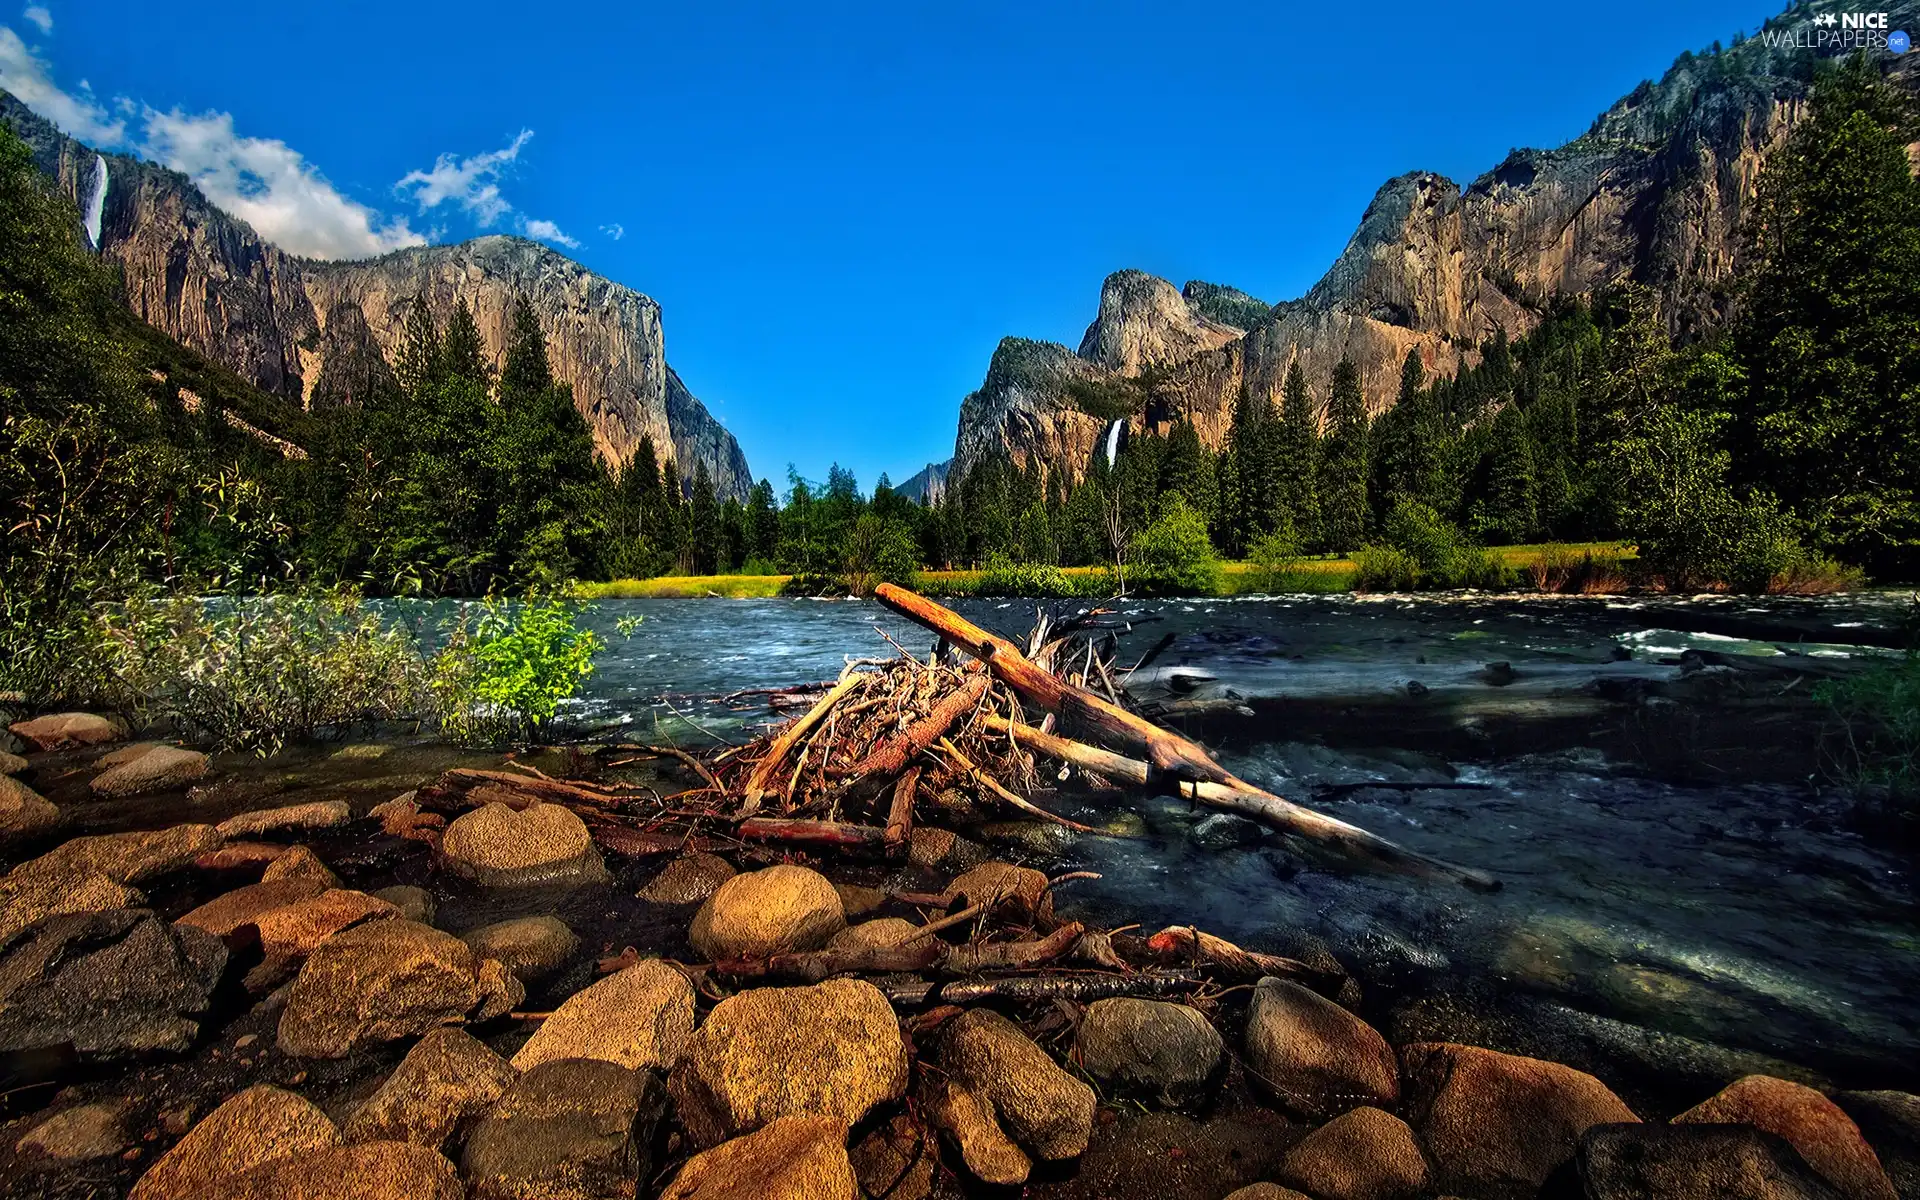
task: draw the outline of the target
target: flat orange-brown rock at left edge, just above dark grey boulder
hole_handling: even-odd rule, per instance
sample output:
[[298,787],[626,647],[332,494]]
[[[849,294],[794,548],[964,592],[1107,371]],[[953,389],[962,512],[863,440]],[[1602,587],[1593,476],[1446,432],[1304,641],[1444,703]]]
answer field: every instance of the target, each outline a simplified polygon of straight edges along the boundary
[[190,866],[221,841],[213,826],[175,826],[75,837],[29,858],[0,879],[0,945],[46,916],[134,908],[144,897],[132,883]]

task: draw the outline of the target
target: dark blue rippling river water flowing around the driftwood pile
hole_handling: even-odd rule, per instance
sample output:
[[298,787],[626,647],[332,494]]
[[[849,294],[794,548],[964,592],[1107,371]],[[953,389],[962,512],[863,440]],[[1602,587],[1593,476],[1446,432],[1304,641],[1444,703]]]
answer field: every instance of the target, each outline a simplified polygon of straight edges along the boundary
[[[1283,597],[1142,607],[1133,616],[1158,620],[1121,637],[1123,662],[1171,634],[1137,676],[1142,691],[1235,695],[1254,707],[1252,718],[1196,730],[1229,770],[1492,870],[1503,887],[1476,895],[1340,874],[1271,843],[1233,845],[1231,831],[1227,849],[1208,849],[1221,845],[1217,828],[1196,835],[1208,814],[1156,797],[1062,793],[1048,803],[1064,814],[1131,835],[1062,841],[1046,829],[1029,841],[1102,872],[1073,885],[1068,908],[1106,924],[1196,924],[1260,948],[1331,948],[1375,989],[1375,1016],[1407,1037],[1496,1039],[1484,1025],[1498,1020],[1515,1048],[1624,1054],[1649,1073],[1676,1064],[1724,1071],[1747,1062],[1722,1054],[1738,1048],[1836,1081],[1912,1089],[1912,858],[1876,845],[1843,797],[1807,778],[1812,707],[1789,720],[1734,710],[1703,722],[1684,701],[1620,703],[1680,680],[1676,660],[1690,649],[1832,660],[1887,653],[1847,643],[1895,643],[1903,603]],[[958,609],[1010,636],[1035,612],[1033,603],[1000,601]],[[622,616],[645,620],[622,637]],[[645,737],[732,739],[743,724],[778,720],[756,705],[695,697],[831,680],[849,655],[891,653],[881,632],[920,655],[931,647],[918,626],[858,601],[609,601],[593,620],[611,649],[580,716]],[[1786,637],[1799,643],[1778,645]],[[1490,685],[1488,662],[1509,664],[1513,682]],[[1354,787],[1380,781],[1394,787]],[[1465,1029],[1465,1020],[1480,1025]]]

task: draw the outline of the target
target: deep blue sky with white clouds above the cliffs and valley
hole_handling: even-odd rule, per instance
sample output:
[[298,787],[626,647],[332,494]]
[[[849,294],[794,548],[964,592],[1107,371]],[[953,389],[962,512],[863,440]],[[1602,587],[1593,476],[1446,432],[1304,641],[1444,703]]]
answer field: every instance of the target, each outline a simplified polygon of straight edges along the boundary
[[38,0],[0,81],[292,250],[557,242],[660,301],[756,474],[872,486],[1110,271],[1294,298],[1388,177],[1565,142],[1778,8]]

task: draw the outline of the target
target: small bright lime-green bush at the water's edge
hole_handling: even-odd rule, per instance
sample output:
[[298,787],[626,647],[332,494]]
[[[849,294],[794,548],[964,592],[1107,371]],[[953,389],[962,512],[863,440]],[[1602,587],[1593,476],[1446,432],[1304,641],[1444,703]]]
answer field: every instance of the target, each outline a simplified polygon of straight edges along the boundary
[[[593,674],[603,641],[582,628],[580,601],[559,591],[488,597],[453,626],[432,660],[440,728],[457,741],[532,737]],[[468,614],[470,616],[470,614]]]

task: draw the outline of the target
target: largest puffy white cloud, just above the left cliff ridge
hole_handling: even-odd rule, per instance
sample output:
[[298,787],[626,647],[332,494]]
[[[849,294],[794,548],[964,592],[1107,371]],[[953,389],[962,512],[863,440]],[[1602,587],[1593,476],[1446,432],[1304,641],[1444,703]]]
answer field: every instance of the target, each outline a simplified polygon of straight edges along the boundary
[[353,259],[426,244],[403,217],[386,219],[336,192],[286,142],[236,134],[232,113],[146,109],[142,152],[288,253]]

